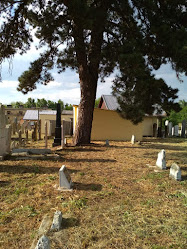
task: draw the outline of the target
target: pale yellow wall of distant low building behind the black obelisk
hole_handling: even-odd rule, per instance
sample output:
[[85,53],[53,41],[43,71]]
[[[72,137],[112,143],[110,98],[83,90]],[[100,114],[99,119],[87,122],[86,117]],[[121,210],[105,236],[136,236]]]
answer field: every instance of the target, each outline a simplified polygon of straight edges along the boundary
[[[72,115],[61,115],[61,120],[71,121]],[[56,120],[56,115],[54,114],[40,114],[41,120],[41,133],[45,134],[45,122],[47,122],[48,134],[49,134],[49,123],[51,120]]]

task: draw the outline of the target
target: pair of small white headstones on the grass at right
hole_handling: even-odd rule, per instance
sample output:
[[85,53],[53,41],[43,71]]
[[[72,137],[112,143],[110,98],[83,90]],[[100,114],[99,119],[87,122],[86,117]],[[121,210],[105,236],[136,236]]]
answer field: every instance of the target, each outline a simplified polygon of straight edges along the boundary
[[[165,150],[161,150],[158,153],[156,166],[158,166],[162,170],[167,169],[166,168],[166,153],[165,153]],[[181,181],[181,179],[182,179],[181,178],[181,169],[176,163],[173,163],[171,165],[169,176],[174,178],[177,181]]]

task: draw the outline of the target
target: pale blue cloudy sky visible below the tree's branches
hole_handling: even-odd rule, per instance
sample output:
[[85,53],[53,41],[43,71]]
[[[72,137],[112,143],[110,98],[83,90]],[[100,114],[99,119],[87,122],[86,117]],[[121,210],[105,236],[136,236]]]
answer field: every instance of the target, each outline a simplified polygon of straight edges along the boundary
[[[18,77],[29,68],[31,61],[38,58],[38,50],[33,45],[31,50],[24,55],[16,55],[11,63],[5,61],[1,67],[2,82],[0,82],[0,103],[9,104],[12,101],[26,102],[29,97],[45,98],[47,100],[63,100],[65,103],[79,104],[80,88],[78,75],[66,70],[62,74],[53,72],[54,81],[47,86],[38,85],[37,89],[24,95],[16,90],[18,86]],[[187,100],[187,77],[182,77],[183,83],[180,83],[170,65],[161,67],[156,72],[157,78],[163,78],[168,85],[179,89],[179,99]],[[106,79],[105,83],[98,83],[97,98],[102,94],[111,93],[113,76]]]

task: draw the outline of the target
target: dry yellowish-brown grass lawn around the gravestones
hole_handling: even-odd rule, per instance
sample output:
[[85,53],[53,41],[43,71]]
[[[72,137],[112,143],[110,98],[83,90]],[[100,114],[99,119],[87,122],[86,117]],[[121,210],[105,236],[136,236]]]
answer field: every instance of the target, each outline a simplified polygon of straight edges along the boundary
[[[155,165],[161,149],[168,169],[155,172],[147,164]],[[96,142],[55,153],[55,160],[0,161],[0,248],[29,248],[55,210],[64,219],[61,231],[48,234],[51,249],[187,248],[187,139]],[[172,162],[181,182],[168,177]],[[62,165],[72,192],[54,188]]]

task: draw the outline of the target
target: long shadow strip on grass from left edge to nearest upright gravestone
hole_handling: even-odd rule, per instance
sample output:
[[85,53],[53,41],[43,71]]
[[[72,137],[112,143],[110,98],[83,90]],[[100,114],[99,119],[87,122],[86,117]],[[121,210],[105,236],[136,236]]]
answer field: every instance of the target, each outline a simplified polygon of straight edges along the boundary
[[0,172],[6,172],[9,174],[51,174],[57,173],[59,167],[41,167],[37,165],[33,166],[23,166],[23,165],[0,165]]

